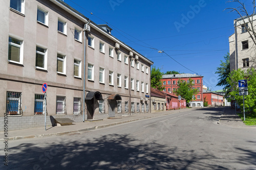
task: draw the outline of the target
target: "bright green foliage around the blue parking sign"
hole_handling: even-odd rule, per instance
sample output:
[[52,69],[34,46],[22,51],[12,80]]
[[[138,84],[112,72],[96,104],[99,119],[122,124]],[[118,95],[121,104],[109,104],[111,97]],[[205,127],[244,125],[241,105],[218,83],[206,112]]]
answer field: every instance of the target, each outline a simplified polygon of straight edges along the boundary
[[239,95],[238,81],[247,79],[248,95],[244,95],[244,106],[246,111],[256,113],[256,70],[254,68],[247,69],[246,71],[239,68],[233,70],[227,82],[230,84],[232,91],[229,93],[231,99],[236,99],[241,108],[243,108],[243,96]]

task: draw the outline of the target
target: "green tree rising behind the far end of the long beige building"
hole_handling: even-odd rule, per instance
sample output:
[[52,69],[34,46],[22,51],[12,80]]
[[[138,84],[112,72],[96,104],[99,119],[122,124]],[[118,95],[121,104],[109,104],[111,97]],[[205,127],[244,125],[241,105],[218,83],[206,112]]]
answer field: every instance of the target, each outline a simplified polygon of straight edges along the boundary
[[160,81],[162,79],[163,72],[159,68],[156,69],[156,67],[152,67],[151,69],[151,87],[156,88],[160,91],[164,89],[164,86],[162,86],[162,82]]

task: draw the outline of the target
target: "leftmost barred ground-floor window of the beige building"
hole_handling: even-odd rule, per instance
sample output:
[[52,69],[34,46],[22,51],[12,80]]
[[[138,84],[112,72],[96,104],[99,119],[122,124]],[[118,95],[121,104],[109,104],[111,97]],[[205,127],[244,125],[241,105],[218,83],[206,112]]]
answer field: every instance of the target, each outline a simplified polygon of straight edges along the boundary
[[7,91],[6,113],[9,115],[22,114],[22,93]]

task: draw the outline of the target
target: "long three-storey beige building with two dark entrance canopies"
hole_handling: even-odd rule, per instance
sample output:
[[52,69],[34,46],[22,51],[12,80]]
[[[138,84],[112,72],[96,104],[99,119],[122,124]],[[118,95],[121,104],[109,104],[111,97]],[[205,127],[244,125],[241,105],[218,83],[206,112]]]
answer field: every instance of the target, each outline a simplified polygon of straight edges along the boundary
[[[150,112],[152,61],[60,0],[3,1],[0,116],[9,130]],[[47,83],[47,110],[42,84]],[[144,106],[143,106],[144,105]],[[146,109],[142,109],[148,108]]]

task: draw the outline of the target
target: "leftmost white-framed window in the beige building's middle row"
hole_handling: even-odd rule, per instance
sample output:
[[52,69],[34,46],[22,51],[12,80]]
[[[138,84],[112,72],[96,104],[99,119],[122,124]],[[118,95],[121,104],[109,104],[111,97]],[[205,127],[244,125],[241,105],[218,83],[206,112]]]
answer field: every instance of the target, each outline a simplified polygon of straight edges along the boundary
[[23,64],[23,41],[9,37],[8,61]]

